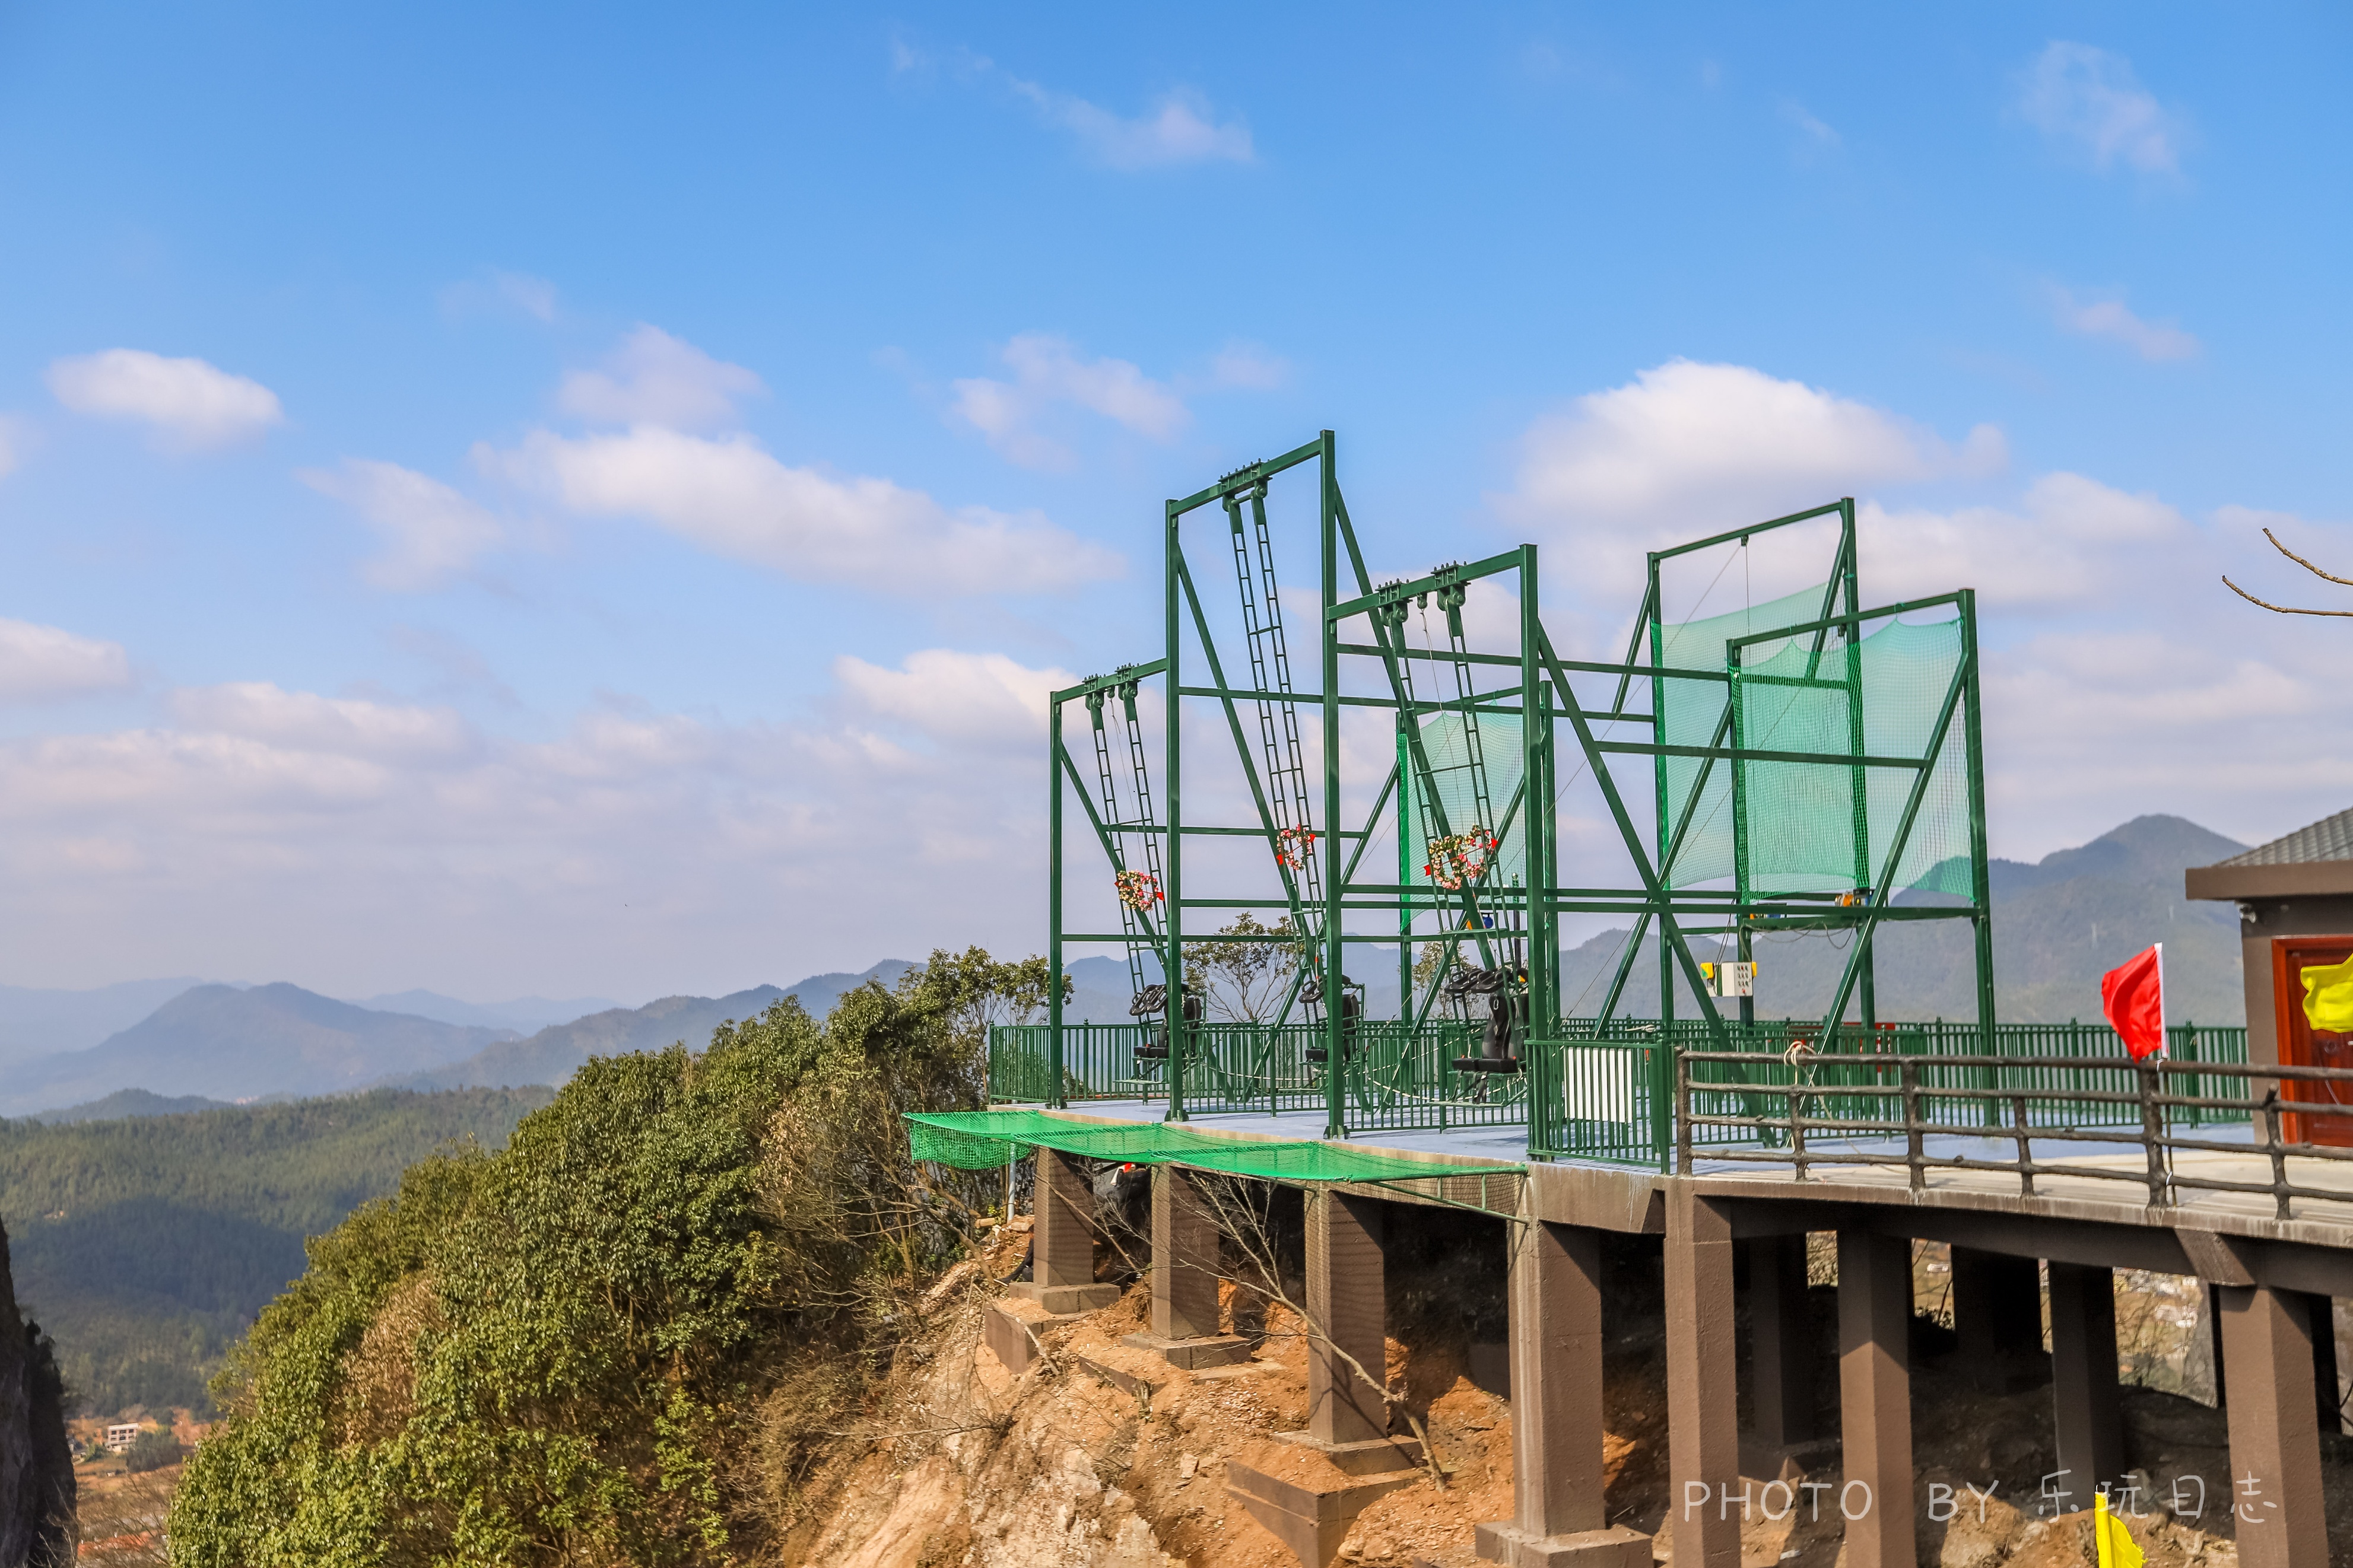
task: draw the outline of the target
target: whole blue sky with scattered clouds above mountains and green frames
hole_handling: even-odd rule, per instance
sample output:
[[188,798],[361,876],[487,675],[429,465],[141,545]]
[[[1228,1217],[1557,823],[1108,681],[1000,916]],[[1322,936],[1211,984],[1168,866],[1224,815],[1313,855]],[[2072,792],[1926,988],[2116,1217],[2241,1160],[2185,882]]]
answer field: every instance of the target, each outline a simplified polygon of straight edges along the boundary
[[2353,571],[2348,78],[2329,7],[0,5],[0,980],[1031,950],[1038,693],[1322,425],[1591,639],[1854,494],[1986,595],[1998,853],[2271,837],[2344,632],[2214,578]]

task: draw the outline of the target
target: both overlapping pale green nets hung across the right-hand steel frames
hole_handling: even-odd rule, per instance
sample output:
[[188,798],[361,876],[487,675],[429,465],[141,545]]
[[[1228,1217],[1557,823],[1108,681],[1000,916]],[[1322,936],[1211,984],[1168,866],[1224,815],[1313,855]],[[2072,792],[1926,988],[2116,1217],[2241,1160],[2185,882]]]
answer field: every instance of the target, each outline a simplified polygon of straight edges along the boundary
[[[1659,663],[1729,670],[1727,639],[1819,621],[1826,588],[1661,628]],[[1739,679],[1661,679],[1659,715],[1668,745],[1821,752],[1826,762],[1748,762],[1734,769],[1704,757],[1666,757],[1668,830],[1689,818],[1668,867],[1673,886],[1729,882],[1751,893],[1840,893],[1873,886],[1904,820],[1913,769],[1857,769],[1835,757],[1927,757],[1937,715],[1960,668],[1960,621],[1880,621],[1861,642],[1845,628],[1753,642]],[[1857,726],[1857,693],[1861,722]],[[1737,708],[1737,712],[1732,712]],[[1734,719],[1725,724],[1727,715]],[[1969,896],[1967,710],[1958,708],[1929,769],[1894,889]],[[1739,825],[1739,839],[1734,835]],[[1746,860],[1734,865],[1734,856]]]

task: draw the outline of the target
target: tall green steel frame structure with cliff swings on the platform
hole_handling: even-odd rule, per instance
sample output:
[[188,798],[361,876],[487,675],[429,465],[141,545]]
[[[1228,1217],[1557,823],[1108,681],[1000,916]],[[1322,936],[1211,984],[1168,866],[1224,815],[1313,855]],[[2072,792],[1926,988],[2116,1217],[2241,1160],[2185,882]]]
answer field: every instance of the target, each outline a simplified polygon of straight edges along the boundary
[[[1315,625],[1315,682],[1313,689],[1294,686],[1282,625],[1282,597],[1275,583],[1271,524],[1266,512],[1268,489],[1275,482],[1315,484],[1318,527],[1318,625]],[[1668,639],[1675,628],[1664,621],[1661,567],[1694,550],[1713,545],[1746,545],[1751,538],[1812,520],[1835,520],[1838,545],[1817,614],[1793,625],[1746,628],[1741,635],[1722,639],[1722,658],[1699,665],[1671,663]],[[1200,545],[1198,534],[1217,522],[1226,524],[1233,548],[1235,581],[1240,590],[1242,642],[1240,658],[1219,649],[1212,635],[1209,607],[1205,607],[1200,583],[1188,557],[1188,538]],[[1464,635],[1461,607],[1471,583],[1499,578],[1518,595],[1515,646],[1506,651],[1473,651]],[[1412,646],[1407,637],[1407,611],[1435,602],[1449,618],[1449,649]],[[1224,609],[1224,607],[1221,607]],[[1899,755],[1873,755],[1866,750],[1864,724],[1864,656],[1866,628],[1889,625],[1897,616],[1944,611],[1958,623],[1958,658],[1944,682],[1932,719],[1925,729],[1925,745],[1906,748]],[[1426,625],[1426,623],[1424,623]],[[1765,663],[1744,665],[1744,656],[1802,649],[1802,670],[1769,670]],[[1786,656],[1781,663],[1788,663]],[[1247,668],[1247,679],[1240,672]],[[1421,696],[1414,682],[1417,670],[1438,675],[1440,668],[1454,675],[1454,696]],[[1344,670],[1369,675],[1367,682],[1344,682]],[[1473,689],[1480,679],[1494,686]],[[1602,696],[1581,696],[1574,679]],[[1348,691],[1351,684],[1369,684],[1369,691]],[[1786,750],[1777,745],[1744,743],[1741,693],[1762,689],[1786,689],[1788,701],[1821,698],[1826,712],[1845,715],[1847,729],[1835,745],[1812,745]],[[1148,736],[1139,696],[1155,689],[1162,698],[1160,733]],[[1649,696],[1647,712],[1631,708],[1638,693]],[[1706,743],[1673,738],[1668,726],[1668,703],[1682,701],[1678,693],[1711,693],[1708,703],[1722,705],[1713,736]],[[1866,607],[1857,583],[1857,524],[1854,503],[1835,501],[1788,517],[1774,517],[1744,529],[1729,529],[1699,538],[1673,550],[1649,555],[1649,585],[1635,618],[1635,635],[1626,656],[1614,663],[1562,658],[1544,628],[1539,607],[1537,548],[1520,545],[1487,559],[1438,567],[1419,578],[1374,583],[1365,567],[1348,505],[1341,496],[1337,473],[1337,442],[1329,430],[1320,433],[1282,456],[1249,463],[1228,473],[1217,484],[1179,501],[1167,501],[1162,510],[1162,639],[1155,658],[1122,665],[1111,675],[1089,677],[1075,686],[1052,693],[1049,710],[1049,964],[1054,976],[1064,973],[1071,945],[1120,945],[1129,954],[1129,978],[1139,990],[1146,980],[1165,985],[1165,1058],[1158,1063],[1155,1084],[1139,1093],[1158,1098],[1165,1093],[1169,1121],[1186,1121],[1188,1074],[1212,1048],[1214,1025],[1188,1018],[1186,1011],[1186,945],[1202,940],[1247,940],[1219,933],[1188,931],[1195,917],[1212,910],[1268,910],[1289,917],[1301,938],[1301,964],[1292,978],[1292,992],[1282,1001],[1282,1018],[1266,1039],[1282,1032],[1292,1009],[1325,999],[1320,1009],[1320,1051],[1311,1046],[1306,1060],[1322,1063],[1311,1088],[1320,1091],[1325,1110],[1325,1135],[1344,1138],[1348,1131],[1348,1072],[1353,1044],[1369,1020],[1348,1016],[1344,1001],[1346,969],[1344,954],[1351,943],[1400,943],[1400,1009],[1395,1023],[1379,1025],[1395,1041],[1412,1044],[1417,1037],[1445,1034],[1459,1044],[1464,1030],[1431,1020],[1431,992],[1417,999],[1414,947],[1419,943],[1447,943],[1454,947],[1475,943],[1485,966],[1497,966],[1494,945],[1513,943],[1513,985],[1525,994],[1525,1034],[1520,1037],[1520,1065],[1525,1072],[1511,1093],[1525,1095],[1520,1114],[1529,1121],[1532,1154],[1560,1152],[1607,1152],[1609,1133],[1579,1131],[1577,1079],[1588,1072],[1595,1048],[1617,1048],[1640,1058],[1638,1093],[1645,1103],[1628,1112],[1624,1095],[1609,1100],[1612,1119],[1631,1117],[1647,1121],[1640,1128],[1645,1147],[1664,1147],[1671,1131],[1673,1063],[1678,1048],[1706,1051],[1772,1051],[1777,1058],[1793,1039],[1809,1039],[1814,1048],[1871,1048],[1875,1034],[1873,994],[1873,938],[1887,922],[1918,919],[1965,919],[1974,933],[1977,969],[1977,1023],[1974,1048],[1995,1053],[1993,1016],[1993,947],[1991,947],[1991,891],[1986,882],[1986,816],[1984,816],[1984,745],[1979,733],[1979,654],[1977,654],[1977,607],[1972,590],[1911,599],[1901,604]],[[1233,757],[1247,785],[1249,816],[1240,823],[1200,823],[1186,809],[1186,757],[1184,712],[1188,703],[1207,703],[1224,717],[1233,743]],[[1398,762],[1379,790],[1372,809],[1353,823],[1344,823],[1341,802],[1341,715],[1346,708],[1388,710],[1398,724]],[[1497,839],[1515,844],[1520,877],[1513,886],[1471,882],[1457,891],[1445,891],[1431,882],[1414,882],[1409,860],[1419,851],[1414,839],[1419,827],[1435,823],[1440,832],[1459,827],[1445,818],[1442,771],[1431,759],[1426,745],[1428,724],[1438,715],[1459,715],[1459,729],[1449,733],[1480,733],[1480,717],[1504,724],[1497,733],[1518,731],[1518,790],[1494,811],[1480,811],[1497,820],[1478,823]],[[1927,712],[1927,710],[1922,710]],[[1092,736],[1096,780],[1080,771],[1073,755],[1073,715],[1080,715]],[[1254,719],[1252,726],[1247,719]],[[1320,724],[1315,764],[1306,762],[1306,724]],[[1605,738],[1602,729],[1645,726],[1647,738]],[[1125,745],[1113,741],[1115,731],[1127,731]],[[1257,729],[1259,745],[1252,745]],[[1642,729],[1635,729],[1642,733]],[[1155,743],[1158,741],[1158,743]],[[1198,743],[1198,736],[1195,736]],[[1591,780],[1609,813],[1617,839],[1624,846],[1631,882],[1619,886],[1560,886],[1558,877],[1558,830],[1555,809],[1560,795],[1560,759],[1555,750],[1574,748],[1581,757],[1577,776]],[[1224,748],[1219,748],[1224,750]],[[1638,820],[1612,762],[1621,757],[1647,757],[1654,771],[1652,823]],[[1132,788],[1118,790],[1115,778],[1122,762],[1132,773]],[[1755,820],[1760,806],[1772,804],[1769,790],[1758,790],[1755,778],[1781,769],[1835,769],[1847,783],[1845,811],[1852,820],[1838,825],[1852,844],[1852,889],[1788,891],[1772,889],[1769,877],[1755,872],[1753,846],[1765,842],[1774,823]],[[1967,851],[1965,893],[1951,903],[1894,903],[1892,893],[1915,823],[1929,797],[1932,776],[1948,790],[1965,792]],[[1680,771],[1678,771],[1680,769]],[[1722,778],[1718,783],[1718,769]],[[1158,778],[1160,804],[1153,806],[1151,780]],[[1482,776],[1480,776],[1482,778]],[[1812,773],[1807,773],[1812,778]],[[1873,792],[1873,783],[1892,778],[1901,788]],[[1482,785],[1485,788],[1485,785]],[[1708,886],[1678,884],[1678,860],[1687,842],[1704,832],[1697,820],[1701,797],[1711,788],[1722,788],[1718,804],[1732,806],[1732,877],[1713,877]],[[1424,804],[1424,823],[1407,820],[1407,795]],[[1838,790],[1833,790],[1833,797]],[[1066,865],[1068,802],[1075,799],[1094,849],[1101,851],[1101,872],[1141,877],[1141,907],[1122,900],[1122,931],[1071,931],[1064,922],[1064,893],[1071,865]],[[1892,832],[1873,823],[1873,799],[1889,806],[1901,799]],[[1395,802],[1395,832],[1400,837],[1398,872],[1365,867],[1367,849],[1384,835],[1386,811]],[[1711,813],[1713,816],[1713,813]],[[1304,832],[1313,832],[1311,849],[1304,851]],[[1515,835],[1515,837],[1513,837]],[[1188,879],[1186,846],[1207,839],[1254,839],[1268,853],[1280,877],[1273,896],[1231,896],[1228,889],[1200,886]],[[1092,856],[1087,856],[1092,863]],[[1953,858],[1958,865],[1960,856]],[[1948,875],[1946,882],[1958,877]],[[1722,886],[1729,882],[1729,886]],[[1951,891],[1951,889],[1948,889]],[[1417,936],[1417,912],[1438,910],[1447,924],[1435,936]],[[1454,917],[1461,917],[1459,922]],[[1560,1006],[1560,922],[1565,914],[1617,914],[1633,922],[1633,940],[1624,947],[1609,992],[1591,1018],[1565,1018]],[[1365,929],[1351,929],[1351,917]],[[1367,926],[1367,917],[1381,917]],[[1207,922],[1202,922],[1207,924]],[[1659,1023],[1633,1023],[1617,1016],[1645,933],[1659,936]],[[1727,1018],[1711,997],[1711,985],[1694,957],[1694,936],[1715,936],[1718,943],[1737,945],[1741,959],[1751,957],[1753,940],[1765,933],[1791,931],[1847,931],[1852,933],[1845,973],[1831,1009],[1819,1025],[1791,1030],[1788,1023],[1762,1025],[1753,1018],[1753,1001],[1741,999],[1739,1013]],[[1525,950],[1525,961],[1520,952]],[[1146,954],[1153,959],[1146,969]],[[1442,969],[1442,966],[1440,966]],[[1685,983],[1699,999],[1699,1018],[1675,1018],[1675,980]],[[1042,1067],[1045,1084],[1035,1098],[1064,1105],[1082,1077],[1071,1072],[1066,1041],[1075,1039],[1080,1025],[1064,1018],[1061,985],[1049,992]],[[1859,1004],[1861,1025],[1847,1020],[1849,1001]],[[1299,1025],[1289,1025],[1299,1032]],[[1099,1027],[1094,1032],[1101,1032]],[[1132,1037],[1144,1039],[1139,1030]],[[1951,1048],[1953,1025],[1944,1025],[1939,1039]],[[1402,1046],[1400,1046],[1402,1048]],[[1442,1051],[1442,1044],[1440,1044]],[[1139,1053],[1141,1056],[1141,1053]],[[1633,1060],[1633,1056],[1628,1060]],[[1200,1058],[1200,1060],[1198,1060]],[[1617,1070],[1614,1070],[1617,1072]],[[1567,1084],[1567,1086],[1565,1086]],[[1480,1081],[1475,1095],[1485,1103],[1504,1093],[1494,1081]],[[1242,1098],[1266,1095],[1273,1103],[1271,1077],[1249,1079]],[[1562,1098],[1567,1095],[1567,1100]],[[1468,1103],[1468,1100],[1464,1100]],[[1226,1105],[1233,1105],[1228,1095]],[[1447,1100],[1440,1105],[1438,1124],[1445,1124]],[[1513,1117],[1518,1119],[1518,1117]]]

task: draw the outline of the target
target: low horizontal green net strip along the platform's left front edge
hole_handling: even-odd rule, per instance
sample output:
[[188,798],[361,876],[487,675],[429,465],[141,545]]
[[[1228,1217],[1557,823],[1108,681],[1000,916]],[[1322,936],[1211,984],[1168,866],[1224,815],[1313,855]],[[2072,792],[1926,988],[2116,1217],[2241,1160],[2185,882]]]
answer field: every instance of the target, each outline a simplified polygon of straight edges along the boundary
[[1031,1150],[1061,1150],[1134,1166],[1191,1166],[1275,1182],[1402,1182],[1447,1175],[1511,1175],[1525,1166],[1457,1166],[1372,1154],[1318,1140],[1219,1138],[1165,1121],[1066,1121],[1035,1110],[906,1112],[915,1159],[991,1171]]

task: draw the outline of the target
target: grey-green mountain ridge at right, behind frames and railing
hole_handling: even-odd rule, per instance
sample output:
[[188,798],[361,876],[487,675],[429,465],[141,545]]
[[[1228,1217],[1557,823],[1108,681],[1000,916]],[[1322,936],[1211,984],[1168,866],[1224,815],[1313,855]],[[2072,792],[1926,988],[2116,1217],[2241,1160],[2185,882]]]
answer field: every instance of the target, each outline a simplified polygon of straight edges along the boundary
[[[2179,816],[2139,816],[2078,849],[2033,865],[1993,860],[1993,985],[2005,1023],[2099,1020],[2099,976],[2151,943],[2165,943],[2167,1013],[2174,1023],[2247,1020],[2238,971],[2238,912],[2191,903],[2181,872],[2212,865],[2245,844]],[[1944,903],[1906,893],[1899,903]],[[1758,1018],[1807,1018],[1831,1006],[1847,943],[1781,936],[1755,945]],[[1626,931],[1605,931],[1562,954],[1562,1009],[1591,1016],[1609,992]],[[1715,938],[1694,938],[1701,959]],[[1729,943],[1725,957],[1732,957]],[[1977,1018],[1969,933],[1960,922],[1880,926],[1875,940],[1880,1018]],[[1678,985],[1678,990],[1682,990]],[[1857,1004],[1847,1004],[1847,1016]],[[1659,945],[1642,943],[1619,1013],[1659,1011]],[[1675,1004],[1692,1016],[1689,992]]]

